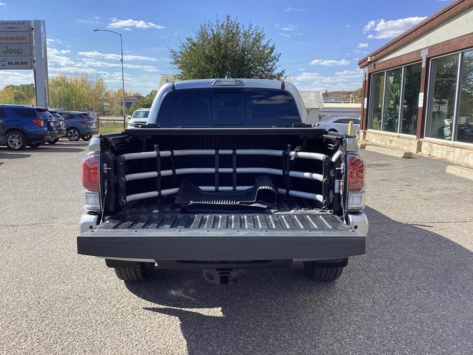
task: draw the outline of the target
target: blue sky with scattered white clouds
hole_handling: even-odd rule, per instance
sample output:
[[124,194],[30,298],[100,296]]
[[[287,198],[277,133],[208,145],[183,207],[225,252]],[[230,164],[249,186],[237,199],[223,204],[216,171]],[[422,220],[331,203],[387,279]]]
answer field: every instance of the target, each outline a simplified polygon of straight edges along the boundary
[[[151,1],[1,0],[0,19],[44,19],[50,76],[104,73],[121,86],[119,37],[123,33],[125,89],[147,93],[161,74],[174,74],[168,48],[205,19],[227,14],[264,28],[281,53],[280,64],[300,90],[354,90],[357,61],[448,2],[385,1]],[[1,71],[0,87],[33,81],[32,71]]]

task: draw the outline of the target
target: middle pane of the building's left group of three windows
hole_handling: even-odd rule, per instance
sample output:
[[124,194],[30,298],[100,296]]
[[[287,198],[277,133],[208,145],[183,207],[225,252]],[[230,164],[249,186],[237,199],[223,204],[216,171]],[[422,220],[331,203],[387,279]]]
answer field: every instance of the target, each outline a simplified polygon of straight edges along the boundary
[[402,68],[387,71],[386,104],[382,130],[397,132],[401,102]]

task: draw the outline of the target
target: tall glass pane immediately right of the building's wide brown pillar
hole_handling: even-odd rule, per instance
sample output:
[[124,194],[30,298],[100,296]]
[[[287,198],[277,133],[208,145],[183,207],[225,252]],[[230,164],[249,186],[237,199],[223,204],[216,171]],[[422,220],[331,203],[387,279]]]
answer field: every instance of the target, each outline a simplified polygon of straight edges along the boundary
[[431,61],[430,104],[427,137],[452,140],[455,115],[459,54]]

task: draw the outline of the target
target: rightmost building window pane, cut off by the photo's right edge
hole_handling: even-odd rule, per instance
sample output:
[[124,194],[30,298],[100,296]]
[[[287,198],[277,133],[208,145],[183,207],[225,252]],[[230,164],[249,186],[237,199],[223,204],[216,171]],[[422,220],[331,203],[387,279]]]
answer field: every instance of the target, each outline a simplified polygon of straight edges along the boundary
[[473,50],[463,53],[456,140],[473,143]]

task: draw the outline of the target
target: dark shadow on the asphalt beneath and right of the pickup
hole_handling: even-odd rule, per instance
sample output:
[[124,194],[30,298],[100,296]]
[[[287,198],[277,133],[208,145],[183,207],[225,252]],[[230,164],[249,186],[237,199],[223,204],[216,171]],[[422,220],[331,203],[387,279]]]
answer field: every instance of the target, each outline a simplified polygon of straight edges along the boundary
[[[189,354],[467,353],[471,349],[472,253],[425,229],[366,209],[365,256],[333,283],[314,283],[300,264],[253,270],[214,286],[197,271],[159,271],[126,283],[178,317]],[[210,308],[210,309],[209,309]]]

